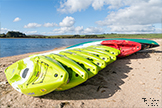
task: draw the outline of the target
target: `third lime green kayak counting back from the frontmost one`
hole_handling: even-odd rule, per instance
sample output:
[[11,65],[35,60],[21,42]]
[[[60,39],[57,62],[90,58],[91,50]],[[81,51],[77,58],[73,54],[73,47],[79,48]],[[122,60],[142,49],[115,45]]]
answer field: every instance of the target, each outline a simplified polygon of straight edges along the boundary
[[84,70],[86,70],[88,72],[88,78],[93,77],[99,71],[98,66],[93,64],[91,61],[89,61],[85,57],[80,56],[74,52],[61,51],[59,54],[64,55],[64,56],[74,60],[75,62],[77,62]]

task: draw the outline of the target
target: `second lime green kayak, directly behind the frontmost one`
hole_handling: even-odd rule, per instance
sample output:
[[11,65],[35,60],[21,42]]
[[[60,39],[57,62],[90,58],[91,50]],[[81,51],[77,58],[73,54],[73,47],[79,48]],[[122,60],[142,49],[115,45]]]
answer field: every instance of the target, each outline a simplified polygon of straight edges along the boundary
[[88,73],[73,60],[60,54],[50,54],[47,56],[60,62],[60,64],[62,64],[62,66],[69,73],[69,82],[58,87],[56,91],[70,89],[85,82],[88,79]]

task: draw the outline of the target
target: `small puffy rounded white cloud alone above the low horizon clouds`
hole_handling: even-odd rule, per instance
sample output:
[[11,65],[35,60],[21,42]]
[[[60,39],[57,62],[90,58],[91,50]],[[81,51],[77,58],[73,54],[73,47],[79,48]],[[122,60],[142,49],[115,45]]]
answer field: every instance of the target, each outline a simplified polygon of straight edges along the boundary
[[73,17],[66,16],[62,22],[59,23],[61,27],[71,27],[75,23],[75,19]]

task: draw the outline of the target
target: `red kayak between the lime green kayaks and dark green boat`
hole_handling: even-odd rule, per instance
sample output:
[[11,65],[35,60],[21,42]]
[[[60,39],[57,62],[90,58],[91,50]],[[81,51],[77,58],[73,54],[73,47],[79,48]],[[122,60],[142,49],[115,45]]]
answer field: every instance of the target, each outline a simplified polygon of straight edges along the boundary
[[141,50],[141,44],[128,40],[105,40],[102,45],[113,47],[120,50],[118,57],[125,57]]

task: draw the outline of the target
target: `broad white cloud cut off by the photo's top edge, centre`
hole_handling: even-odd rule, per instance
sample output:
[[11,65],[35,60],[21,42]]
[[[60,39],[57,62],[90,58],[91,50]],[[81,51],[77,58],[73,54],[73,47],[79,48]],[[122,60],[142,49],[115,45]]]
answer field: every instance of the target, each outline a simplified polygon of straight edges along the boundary
[[86,10],[92,6],[95,10],[102,9],[106,5],[109,9],[119,9],[120,7],[141,2],[141,0],[64,0],[60,2],[60,8],[57,11],[61,13],[74,13]]

